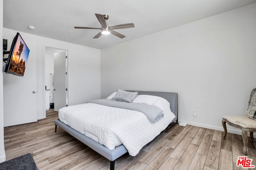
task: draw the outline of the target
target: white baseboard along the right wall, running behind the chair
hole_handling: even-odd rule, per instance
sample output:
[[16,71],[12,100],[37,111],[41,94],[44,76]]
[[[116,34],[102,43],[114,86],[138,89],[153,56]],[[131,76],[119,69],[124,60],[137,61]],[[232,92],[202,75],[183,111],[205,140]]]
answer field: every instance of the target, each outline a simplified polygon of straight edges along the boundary
[[[188,121],[183,121],[183,120],[178,120],[178,123],[180,122],[185,122],[187,123],[187,125],[193,125],[193,126],[198,126],[198,127],[204,127],[207,129],[213,129],[213,130],[217,130],[217,131],[224,131],[223,127],[217,127],[217,126],[211,126],[211,125],[205,125],[205,124],[201,124],[201,123],[194,123],[194,122],[188,122]],[[239,128],[236,129],[229,129],[228,125],[227,125],[227,131],[228,133],[234,133],[237,135],[242,135],[242,131]],[[256,138],[256,134],[253,134],[253,137]]]

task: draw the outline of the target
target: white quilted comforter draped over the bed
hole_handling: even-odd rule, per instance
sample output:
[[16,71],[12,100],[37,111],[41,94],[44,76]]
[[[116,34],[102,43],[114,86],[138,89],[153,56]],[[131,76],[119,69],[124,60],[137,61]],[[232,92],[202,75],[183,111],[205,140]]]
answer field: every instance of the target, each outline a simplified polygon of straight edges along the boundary
[[163,131],[175,118],[168,111],[164,117],[152,123],[139,111],[103,106],[80,104],[59,110],[59,119],[76,131],[94,139],[113,150],[123,144],[131,156]]

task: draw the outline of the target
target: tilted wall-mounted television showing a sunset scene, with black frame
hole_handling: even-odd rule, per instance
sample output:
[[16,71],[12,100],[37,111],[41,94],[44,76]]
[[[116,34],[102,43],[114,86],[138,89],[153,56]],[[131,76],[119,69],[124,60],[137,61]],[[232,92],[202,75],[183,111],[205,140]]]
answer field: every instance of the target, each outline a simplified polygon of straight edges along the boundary
[[12,41],[3,71],[17,76],[24,76],[29,52],[30,50],[20,36],[20,33],[17,33]]

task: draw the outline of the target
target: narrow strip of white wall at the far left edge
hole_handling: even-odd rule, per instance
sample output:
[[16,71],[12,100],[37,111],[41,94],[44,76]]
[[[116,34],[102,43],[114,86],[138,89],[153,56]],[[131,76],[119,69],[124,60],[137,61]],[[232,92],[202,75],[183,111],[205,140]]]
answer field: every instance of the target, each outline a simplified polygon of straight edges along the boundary
[[[3,0],[0,0],[0,51],[3,51]],[[0,68],[3,63],[0,62]],[[3,72],[0,71],[0,162],[6,159],[4,151],[4,109],[3,109]]]

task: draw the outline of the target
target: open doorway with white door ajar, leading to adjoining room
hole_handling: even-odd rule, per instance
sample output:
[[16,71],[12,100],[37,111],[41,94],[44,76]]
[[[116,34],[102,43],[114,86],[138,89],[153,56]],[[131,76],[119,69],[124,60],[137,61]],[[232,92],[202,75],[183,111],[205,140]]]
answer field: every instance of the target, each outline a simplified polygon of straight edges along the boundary
[[44,87],[45,110],[58,111],[68,106],[68,51],[45,47]]

